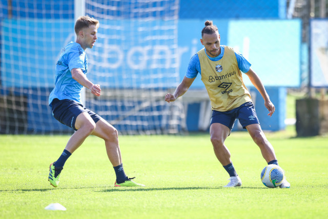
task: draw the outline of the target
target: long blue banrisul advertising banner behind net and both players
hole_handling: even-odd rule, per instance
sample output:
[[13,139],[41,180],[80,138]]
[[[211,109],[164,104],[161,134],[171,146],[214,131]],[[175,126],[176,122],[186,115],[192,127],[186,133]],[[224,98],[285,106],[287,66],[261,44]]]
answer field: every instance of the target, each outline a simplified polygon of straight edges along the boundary
[[[265,86],[300,85],[300,20],[217,19],[213,23],[219,29],[221,45],[242,53]],[[100,24],[95,47],[87,50],[88,72],[92,72],[88,77],[108,88],[176,87],[192,55],[203,48],[199,39],[204,21],[199,19],[100,21]],[[324,24],[327,26],[326,21]],[[61,48],[75,41],[73,26],[72,20],[4,19],[2,84],[52,87]],[[317,30],[317,23],[312,27]],[[322,32],[322,37],[314,42],[316,56],[327,51],[326,33]],[[313,72],[321,76],[313,83],[327,85],[325,66],[317,59],[314,64],[318,65],[312,65]],[[247,77],[245,84],[251,84]],[[192,88],[204,88],[200,77]]]

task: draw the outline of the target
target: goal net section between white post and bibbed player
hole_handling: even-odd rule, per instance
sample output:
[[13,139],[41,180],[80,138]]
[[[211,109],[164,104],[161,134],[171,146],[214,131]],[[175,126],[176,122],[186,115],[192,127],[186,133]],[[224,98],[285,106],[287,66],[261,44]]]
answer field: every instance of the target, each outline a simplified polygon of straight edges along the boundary
[[176,133],[183,108],[163,101],[179,82],[178,1],[86,1],[86,13],[100,21],[98,42],[88,51],[90,79],[102,98],[87,93],[91,108],[121,132]]

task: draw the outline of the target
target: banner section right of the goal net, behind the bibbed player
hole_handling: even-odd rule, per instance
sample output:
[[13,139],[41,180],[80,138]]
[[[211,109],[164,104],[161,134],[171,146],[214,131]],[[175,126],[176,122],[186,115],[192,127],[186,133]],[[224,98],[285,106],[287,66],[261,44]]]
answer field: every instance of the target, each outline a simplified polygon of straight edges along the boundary
[[[231,46],[247,58],[265,86],[300,86],[300,20],[218,19],[213,24],[218,27],[221,45]],[[191,56],[203,48],[203,27],[203,21],[179,21],[181,79]],[[243,78],[245,85],[252,85],[247,76]],[[191,88],[204,88],[199,76]]]

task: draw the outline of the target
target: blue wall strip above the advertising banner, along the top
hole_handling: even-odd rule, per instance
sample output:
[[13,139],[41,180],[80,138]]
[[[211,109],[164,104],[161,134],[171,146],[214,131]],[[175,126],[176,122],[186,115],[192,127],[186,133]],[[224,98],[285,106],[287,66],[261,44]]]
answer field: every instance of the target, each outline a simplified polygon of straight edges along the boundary
[[[104,1],[93,0],[94,3],[105,4],[108,8],[115,7],[116,10],[99,10],[99,14],[106,14],[120,18],[140,17],[140,12],[133,12],[131,1]],[[285,18],[286,0],[180,0],[179,1],[179,18],[180,19],[225,19],[225,18]],[[0,0],[2,17],[8,16],[8,0]],[[29,17],[29,18],[48,18],[48,19],[73,19],[74,0],[47,0],[47,1],[29,1],[29,0],[11,0],[12,17]],[[163,1],[160,4],[152,3],[157,7],[174,7],[174,1]],[[141,3],[138,7],[149,7],[151,5]],[[87,4],[87,9],[94,11],[93,5]],[[25,10],[22,10],[25,9]],[[42,13],[42,11],[53,10],[52,13]],[[172,10],[173,11],[173,10]],[[162,12],[163,13],[163,12]],[[96,16],[95,14],[90,14]],[[156,11],[144,12],[142,16],[158,16]],[[161,14],[168,16],[168,14]],[[169,14],[170,16],[170,14]]]

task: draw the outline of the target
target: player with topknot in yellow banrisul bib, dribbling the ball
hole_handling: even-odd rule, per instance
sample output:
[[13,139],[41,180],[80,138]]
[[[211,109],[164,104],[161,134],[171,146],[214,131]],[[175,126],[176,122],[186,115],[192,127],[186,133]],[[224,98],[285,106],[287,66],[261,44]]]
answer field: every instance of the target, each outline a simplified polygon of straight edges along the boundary
[[[201,75],[201,81],[207,89],[213,110],[210,135],[214,153],[230,175],[230,182],[224,187],[238,187],[241,186],[241,179],[232,164],[230,151],[224,145],[236,118],[259,146],[265,161],[268,164],[278,165],[274,149],[259,125],[250,92],[242,81],[241,72],[250,78],[262,95],[269,116],[275,112],[275,106],[247,59],[234,52],[233,48],[220,45],[220,34],[212,21],[205,22],[201,37],[200,42],[204,48],[190,59],[185,77],[173,94],[166,94],[165,101],[173,102],[185,94],[197,74]],[[290,183],[284,179],[280,188],[290,188]]]

